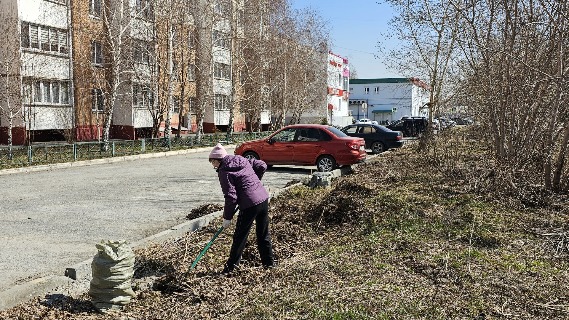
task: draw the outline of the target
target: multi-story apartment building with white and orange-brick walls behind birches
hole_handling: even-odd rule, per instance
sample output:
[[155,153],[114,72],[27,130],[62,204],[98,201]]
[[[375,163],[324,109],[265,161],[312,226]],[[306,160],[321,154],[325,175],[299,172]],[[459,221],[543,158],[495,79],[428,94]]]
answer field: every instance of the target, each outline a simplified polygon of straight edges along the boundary
[[230,118],[234,131],[251,121],[240,108],[242,2],[200,0],[169,17],[178,47],[168,87],[168,21],[158,1],[62,1],[0,0],[9,35],[2,52],[17,52],[0,58],[2,80],[10,83],[0,95],[0,142],[10,123],[15,145],[65,134],[96,140],[109,114],[110,137],[121,139],[161,136],[168,118],[174,132],[196,130],[200,110],[203,132],[226,130]]

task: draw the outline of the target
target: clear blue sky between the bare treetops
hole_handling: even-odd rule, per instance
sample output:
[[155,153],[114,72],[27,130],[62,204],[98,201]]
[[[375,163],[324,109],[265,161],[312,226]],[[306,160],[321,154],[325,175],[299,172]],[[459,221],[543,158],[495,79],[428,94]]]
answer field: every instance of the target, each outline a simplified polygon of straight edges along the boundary
[[387,3],[362,0],[294,0],[296,8],[310,5],[318,7],[324,17],[330,18],[334,27],[332,41],[335,47],[332,52],[348,58],[356,67],[360,79],[398,76],[389,71],[381,59],[374,56],[377,54],[377,40],[385,42],[381,34],[387,31],[387,20],[393,17],[393,11]]

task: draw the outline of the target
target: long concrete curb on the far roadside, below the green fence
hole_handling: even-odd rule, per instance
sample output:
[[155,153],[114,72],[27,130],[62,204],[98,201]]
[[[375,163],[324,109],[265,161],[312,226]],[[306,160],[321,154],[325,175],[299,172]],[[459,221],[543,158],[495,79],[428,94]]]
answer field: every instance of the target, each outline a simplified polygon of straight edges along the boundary
[[[225,149],[235,149],[236,146],[237,145],[227,145],[227,146],[224,146],[224,148]],[[213,149],[213,147],[201,147],[201,148],[195,148],[195,149],[184,149],[184,150],[164,151],[164,152],[155,152],[155,153],[125,155],[125,156],[113,157],[113,158],[101,158],[101,159],[92,159],[92,160],[83,160],[83,161],[74,161],[74,162],[53,163],[52,165],[39,165],[39,166],[13,168],[13,169],[2,169],[2,170],[0,170],[0,175],[16,174],[16,173],[32,173],[32,172],[48,171],[48,170],[55,170],[55,169],[102,165],[104,163],[116,163],[116,162],[132,161],[132,160],[139,160],[139,159],[170,157],[171,155],[207,152],[207,151],[211,151],[212,149]]]

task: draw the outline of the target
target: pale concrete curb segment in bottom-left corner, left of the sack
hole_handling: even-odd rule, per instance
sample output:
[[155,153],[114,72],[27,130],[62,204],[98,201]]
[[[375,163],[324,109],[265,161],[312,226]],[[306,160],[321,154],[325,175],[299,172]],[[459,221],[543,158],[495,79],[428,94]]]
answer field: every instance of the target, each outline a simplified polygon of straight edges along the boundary
[[0,310],[10,309],[19,303],[27,302],[31,298],[42,296],[53,288],[67,285],[69,281],[67,277],[47,276],[0,292]]

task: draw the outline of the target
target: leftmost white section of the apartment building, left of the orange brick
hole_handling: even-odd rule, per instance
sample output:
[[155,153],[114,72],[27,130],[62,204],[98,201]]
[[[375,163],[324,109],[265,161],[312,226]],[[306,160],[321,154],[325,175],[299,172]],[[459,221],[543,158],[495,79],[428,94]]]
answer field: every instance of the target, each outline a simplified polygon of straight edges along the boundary
[[15,145],[73,128],[69,3],[2,0],[0,7],[1,141],[10,124]]

